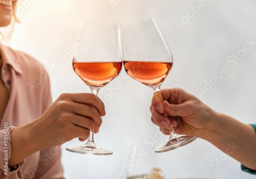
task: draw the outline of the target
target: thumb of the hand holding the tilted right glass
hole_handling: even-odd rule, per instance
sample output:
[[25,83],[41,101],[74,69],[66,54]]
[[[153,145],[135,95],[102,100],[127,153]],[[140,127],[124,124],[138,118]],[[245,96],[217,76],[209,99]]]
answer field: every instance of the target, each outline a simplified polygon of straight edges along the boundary
[[183,116],[186,111],[182,104],[170,104],[167,101],[163,101],[163,107],[168,116]]

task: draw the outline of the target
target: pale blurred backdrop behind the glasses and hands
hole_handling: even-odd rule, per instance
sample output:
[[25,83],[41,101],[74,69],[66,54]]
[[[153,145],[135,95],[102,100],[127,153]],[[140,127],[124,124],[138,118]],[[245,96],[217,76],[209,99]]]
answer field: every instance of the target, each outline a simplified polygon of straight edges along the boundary
[[[71,63],[81,19],[126,25],[153,16],[174,57],[162,88],[181,87],[221,113],[255,123],[255,9],[253,0],[24,0],[18,8],[21,23],[6,44],[44,64],[55,100],[62,93],[90,93]],[[116,90],[120,83],[122,88]],[[168,137],[151,122],[152,95],[153,89],[127,77],[124,70],[100,89],[106,116],[95,142],[114,154],[67,151],[67,146],[81,144],[77,139],[63,144],[66,178],[126,178],[150,173],[153,167],[168,179],[253,178],[240,170],[239,162],[202,139],[155,153]]]

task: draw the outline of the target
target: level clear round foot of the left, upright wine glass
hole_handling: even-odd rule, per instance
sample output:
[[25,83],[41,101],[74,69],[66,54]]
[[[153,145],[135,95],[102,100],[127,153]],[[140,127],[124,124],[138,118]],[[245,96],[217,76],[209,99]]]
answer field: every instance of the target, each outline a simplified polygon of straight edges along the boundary
[[73,147],[66,147],[66,150],[75,153],[81,154],[91,154],[91,155],[111,155],[113,151],[100,148],[96,145],[80,145],[80,146],[73,146]]

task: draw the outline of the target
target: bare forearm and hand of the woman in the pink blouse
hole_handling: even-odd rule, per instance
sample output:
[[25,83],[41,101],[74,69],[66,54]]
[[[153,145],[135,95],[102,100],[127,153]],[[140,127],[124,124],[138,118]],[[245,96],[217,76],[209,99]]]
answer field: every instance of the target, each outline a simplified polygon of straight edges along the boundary
[[95,133],[105,115],[103,102],[93,94],[62,94],[38,119],[10,133],[15,166],[36,151],[61,145],[74,138],[84,141],[94,125]]

